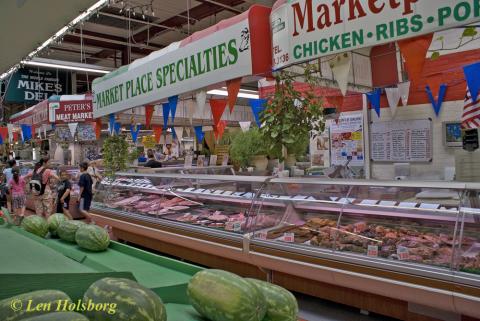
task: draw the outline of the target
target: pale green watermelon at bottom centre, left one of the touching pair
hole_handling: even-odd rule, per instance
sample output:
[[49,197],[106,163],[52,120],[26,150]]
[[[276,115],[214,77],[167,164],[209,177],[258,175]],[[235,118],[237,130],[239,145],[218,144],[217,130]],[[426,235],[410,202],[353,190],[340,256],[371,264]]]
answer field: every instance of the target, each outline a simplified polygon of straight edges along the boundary
[[266,313],[262,293],[249,281],[222,270],[203,270],[188,283],[190,303],[212,321],[261,321]]

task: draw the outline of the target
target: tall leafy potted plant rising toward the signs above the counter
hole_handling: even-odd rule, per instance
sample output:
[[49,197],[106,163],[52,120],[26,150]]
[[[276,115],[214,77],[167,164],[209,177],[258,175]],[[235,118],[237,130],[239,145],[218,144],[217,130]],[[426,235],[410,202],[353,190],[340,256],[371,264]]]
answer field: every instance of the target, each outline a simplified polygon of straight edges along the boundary
[[[299,150],[303,152],[305,138],[309,138],[311,132],[323,132],[325,128],[322,101],[314,94],[318,80],[312,74],[317,68],[315,64],[305,67],[303,80],[308,89],[303,93],[293,86],[298,75],[282,71],[275,76],[275,93],[261,115],[264,124],[261,132],[269,154],[282,151],[280,160],[285,157],[284,149],[292,154]],[[301,142],[299,138],[302,138]]]

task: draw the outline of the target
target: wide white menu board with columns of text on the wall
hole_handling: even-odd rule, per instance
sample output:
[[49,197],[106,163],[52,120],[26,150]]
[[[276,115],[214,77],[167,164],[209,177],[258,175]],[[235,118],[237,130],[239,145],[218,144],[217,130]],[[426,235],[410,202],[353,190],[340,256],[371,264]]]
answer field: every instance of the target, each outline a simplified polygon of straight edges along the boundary
[[429,162],[432,160],[432,121],[372,123],[370,146],[373,161]]

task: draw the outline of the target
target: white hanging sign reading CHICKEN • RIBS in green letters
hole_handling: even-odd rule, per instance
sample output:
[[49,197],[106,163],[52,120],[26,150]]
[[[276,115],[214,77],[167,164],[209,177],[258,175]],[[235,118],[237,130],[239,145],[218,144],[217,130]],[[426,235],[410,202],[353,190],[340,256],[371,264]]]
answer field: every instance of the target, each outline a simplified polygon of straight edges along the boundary
[[270,16],[273,67],[480,20],[480,0],[279,0]]

